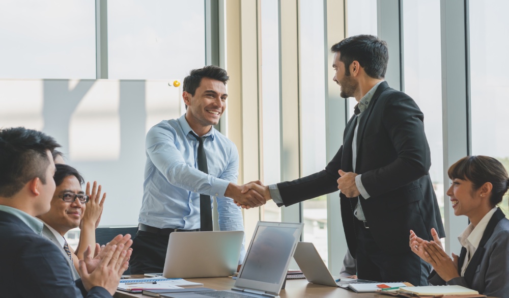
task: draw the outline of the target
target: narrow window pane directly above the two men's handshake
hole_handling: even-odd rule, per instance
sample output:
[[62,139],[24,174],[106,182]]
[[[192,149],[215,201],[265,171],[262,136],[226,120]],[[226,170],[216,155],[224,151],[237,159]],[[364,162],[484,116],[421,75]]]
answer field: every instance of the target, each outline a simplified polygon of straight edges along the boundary
[[[269,185],[281,181],[277,1],[262,0],[260,10],[262,31],[262,179],[266,185]],[[272,200],[262,208],[263,221],[281,221],[281,209]]]

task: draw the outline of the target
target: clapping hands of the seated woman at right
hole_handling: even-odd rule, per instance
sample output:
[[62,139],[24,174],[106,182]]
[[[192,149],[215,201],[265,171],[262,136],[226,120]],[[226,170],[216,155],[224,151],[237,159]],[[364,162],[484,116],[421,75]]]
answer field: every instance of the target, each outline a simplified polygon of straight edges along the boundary
[[410,230],[409,245],[416,255],[430,263],[435,272],[446,282],[460,277],[458,274],[458,256],[452,254],[453,259],[449,258],[442,248],[442,242],[435,229],[431,229],[433,240],[427,241],[417,237],[414,231]]

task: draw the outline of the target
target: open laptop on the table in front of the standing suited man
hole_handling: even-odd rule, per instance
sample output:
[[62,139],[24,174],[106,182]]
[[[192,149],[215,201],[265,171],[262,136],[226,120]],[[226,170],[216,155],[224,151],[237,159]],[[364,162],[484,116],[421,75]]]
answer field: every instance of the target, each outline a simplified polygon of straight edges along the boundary
[[348,288],[348,284],[374,283],[374,281],[363,279],[342,278],[336,282],[325,266],[317,249],[310,242],[299,242],[293,254],[293,258],[299,265],[307,281],[314,284]]

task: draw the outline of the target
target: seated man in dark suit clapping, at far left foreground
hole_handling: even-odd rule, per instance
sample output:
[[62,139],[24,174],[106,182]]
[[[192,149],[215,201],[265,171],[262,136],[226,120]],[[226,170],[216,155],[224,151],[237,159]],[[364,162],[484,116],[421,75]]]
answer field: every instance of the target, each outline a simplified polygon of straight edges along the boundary
[[0,287],[2,297],[111,297],[127,269],[130,235],[96,245],[79,262],[81,279],[71,278],[64,255],[41,236],[35,216],[50,209],[55,191],[51,150],[59,145],[23,127],[0,130]]

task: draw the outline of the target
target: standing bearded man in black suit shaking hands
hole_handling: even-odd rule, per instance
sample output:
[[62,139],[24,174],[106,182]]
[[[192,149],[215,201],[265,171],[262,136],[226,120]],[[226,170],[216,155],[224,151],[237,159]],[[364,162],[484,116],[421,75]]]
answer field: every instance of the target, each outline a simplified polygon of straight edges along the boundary
[[427,285],[430,267],[413,256],[408,231],[432,240],[444,230],[429,176],[430,148],[417,104],[384,81],[388,51],[376,36],[352,36],[332,46],[334,82],[355,97],[343,146],[325,170],[256,189],[289,206],[341,189],[341,215],[360,279]]

